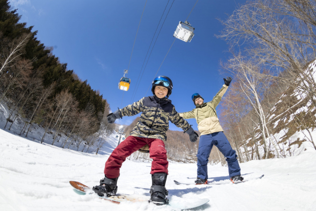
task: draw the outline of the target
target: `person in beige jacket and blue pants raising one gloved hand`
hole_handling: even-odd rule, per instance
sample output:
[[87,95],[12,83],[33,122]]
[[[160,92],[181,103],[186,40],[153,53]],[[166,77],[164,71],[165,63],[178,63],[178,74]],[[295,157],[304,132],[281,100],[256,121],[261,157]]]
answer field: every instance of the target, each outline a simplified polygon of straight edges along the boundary
[[207,163],[213,145],[217,146],[219,151],[225,156],[231,181],[238,183],[243,180],[243,177],[240,176],[240,167],[237,161],[236,151],[232,149],[227,140],[219,124],[215,110],[231,81],[231,77],[224,79],[225,84],[210,102],[204,103],[204,99],[198,93],[193,94],[192,100],[196,108],[189,112],[180,113],[180,116],[184,119],[195,118],[197,120],[198,131],[200,132],[197,150],[196,184],[207,184]]

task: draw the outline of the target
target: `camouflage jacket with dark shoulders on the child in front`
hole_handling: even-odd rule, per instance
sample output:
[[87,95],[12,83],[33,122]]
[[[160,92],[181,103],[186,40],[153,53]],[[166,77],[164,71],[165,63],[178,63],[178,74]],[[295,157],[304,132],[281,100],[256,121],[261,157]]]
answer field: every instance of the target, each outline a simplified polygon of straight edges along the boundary
[[158,138],[166,141],[169,121],[185,131],[190,128],[189,123],[180,117],[174,105],[171,104],[171,100],[167,98],[144,97],[131,105],[119,109],[118,112],[121,117],[134,116],[142,112],[137,125],[129,133],[132,136]]

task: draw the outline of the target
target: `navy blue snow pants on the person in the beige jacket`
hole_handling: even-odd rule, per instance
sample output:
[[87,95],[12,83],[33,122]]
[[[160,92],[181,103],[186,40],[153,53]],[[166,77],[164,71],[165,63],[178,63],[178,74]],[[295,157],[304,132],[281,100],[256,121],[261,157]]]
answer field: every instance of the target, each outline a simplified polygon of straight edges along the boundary
[[237,161],[236,151],[232,149],[224,132],[213,132],[207,135],[201,135],[197,151],[197,177],[207,179],[207,163],[211,150],[215,145],[225,156],[228,164],[229,176],[240,175],[240,167]]

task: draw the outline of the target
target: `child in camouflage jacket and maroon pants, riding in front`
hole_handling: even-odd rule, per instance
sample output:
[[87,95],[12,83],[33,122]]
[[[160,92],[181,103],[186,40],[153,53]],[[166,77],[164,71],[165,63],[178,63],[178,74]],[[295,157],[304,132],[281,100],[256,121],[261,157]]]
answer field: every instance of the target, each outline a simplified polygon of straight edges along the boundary
[[168,191],[165,188],[168,174],[168,161],[164,141],[169,121],[177,127],[181,127],[190,135],[192,142],[197,140],[197,133],[176,112],[171,100],[168,99],[172,91],[172,81],[165,76],[159,76],[152,83],[154,96],[144,97],[114,113],[108,115],[108,122],[114,123],[116,119],[123,116],[134,116],[142,112],[137,125],[132,129],[130,135],[121,142],[108,158],[100,185],[94,186],[93,190],[99,196],[113,196],[118,191],[119,169],[125,159],[133,152],[140,150],[149,152],[152,162],[152,186],[149,202],[157,205],[168,204]]

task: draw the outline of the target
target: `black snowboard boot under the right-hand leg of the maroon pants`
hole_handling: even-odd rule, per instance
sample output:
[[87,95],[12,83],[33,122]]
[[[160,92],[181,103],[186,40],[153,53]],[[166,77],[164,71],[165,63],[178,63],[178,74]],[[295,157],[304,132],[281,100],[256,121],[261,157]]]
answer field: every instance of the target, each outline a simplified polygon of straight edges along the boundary
[[150,200],[155,205],[166,205],[169,204],[167,199],[168,190],[164,187],[167,180],[166,173],[154,173],[152,174],[152,187],[150,188]]

